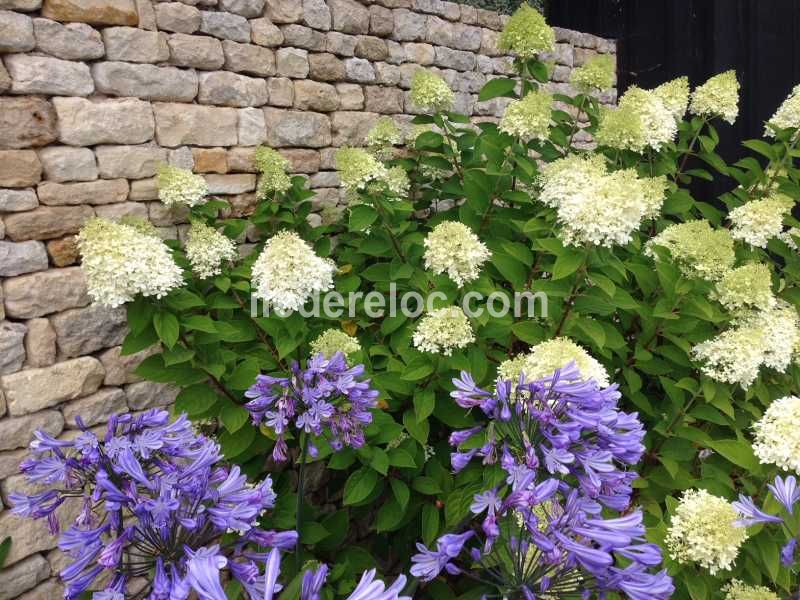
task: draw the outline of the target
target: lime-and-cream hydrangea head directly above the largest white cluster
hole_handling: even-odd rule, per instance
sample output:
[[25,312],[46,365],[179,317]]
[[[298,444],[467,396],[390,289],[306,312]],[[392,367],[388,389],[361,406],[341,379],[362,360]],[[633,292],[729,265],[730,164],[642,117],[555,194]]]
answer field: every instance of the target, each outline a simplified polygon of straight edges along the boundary
[[654,91],[632,86],[616,108],[606,109],[597,129],[597,143],[620,150],[660,150],[678,134],[672,110]]

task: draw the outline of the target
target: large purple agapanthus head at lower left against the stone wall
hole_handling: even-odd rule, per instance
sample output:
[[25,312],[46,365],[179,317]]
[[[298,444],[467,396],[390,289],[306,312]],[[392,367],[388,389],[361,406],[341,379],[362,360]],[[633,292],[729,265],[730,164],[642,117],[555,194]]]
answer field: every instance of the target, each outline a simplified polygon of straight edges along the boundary
[[[99,581],[107,583],[95,598],[132,597],[128,585],[142,576],[148,587],[139,597],[224,600],[223,571],[251,599],[263,598],[259,547],[292,548],[297,539],[256,525],[275,505],[269,477],[249,484],[185,415],[173,422],[163,410],[115,415],[102,438],[82,429],[73,440],[36,432],[20,468],[48,489],[11,494],[14,513],[47,519],[54,534],[62,506],[82,507],[58,543],[68,559],[60,572],[67,600]],[[237,538],[223,539],[232,531]]]

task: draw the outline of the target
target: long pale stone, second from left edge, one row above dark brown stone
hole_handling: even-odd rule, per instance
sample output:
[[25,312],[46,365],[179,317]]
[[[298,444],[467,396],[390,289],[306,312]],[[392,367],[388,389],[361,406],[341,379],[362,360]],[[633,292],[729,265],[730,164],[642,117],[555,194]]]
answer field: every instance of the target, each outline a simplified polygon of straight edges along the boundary
[[191,102],[197,96],[197,74],[176,67],[102,62],[92,66],[97,91],[110,96]]

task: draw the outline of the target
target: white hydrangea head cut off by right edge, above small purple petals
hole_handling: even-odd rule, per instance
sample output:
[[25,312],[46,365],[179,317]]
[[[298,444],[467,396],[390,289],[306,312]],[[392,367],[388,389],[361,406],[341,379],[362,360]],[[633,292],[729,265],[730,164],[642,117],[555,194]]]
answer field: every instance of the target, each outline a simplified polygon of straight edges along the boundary
[[753,432],[753,452],[759,461],[800,474],[800,398],[773,401]]

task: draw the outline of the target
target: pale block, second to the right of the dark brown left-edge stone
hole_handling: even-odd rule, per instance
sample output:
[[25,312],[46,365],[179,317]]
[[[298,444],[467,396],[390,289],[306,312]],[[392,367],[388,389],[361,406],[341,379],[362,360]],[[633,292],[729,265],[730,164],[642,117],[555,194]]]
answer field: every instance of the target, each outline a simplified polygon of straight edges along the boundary
[[235,146],[237,114],[233,108],[191,104],[153,105],[161,146]]

